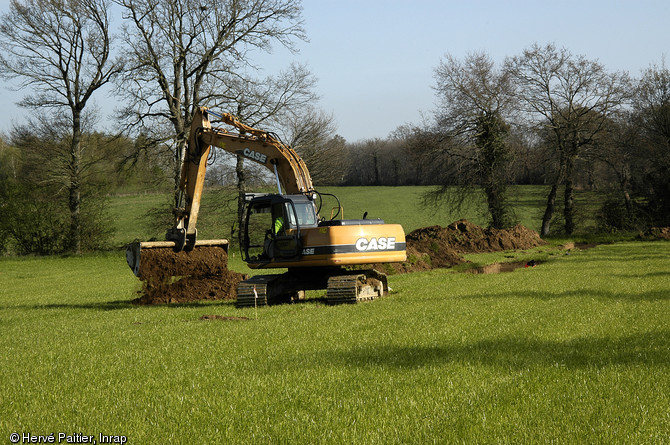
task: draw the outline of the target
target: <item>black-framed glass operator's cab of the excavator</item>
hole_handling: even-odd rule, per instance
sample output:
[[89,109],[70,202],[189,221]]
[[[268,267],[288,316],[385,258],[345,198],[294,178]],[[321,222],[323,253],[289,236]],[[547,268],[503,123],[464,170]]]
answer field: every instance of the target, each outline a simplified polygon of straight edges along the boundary
[[300,256],[300,231],[316,227],[314,203],[305,195],[261,195],[246,203],[242,256],[247,262]]

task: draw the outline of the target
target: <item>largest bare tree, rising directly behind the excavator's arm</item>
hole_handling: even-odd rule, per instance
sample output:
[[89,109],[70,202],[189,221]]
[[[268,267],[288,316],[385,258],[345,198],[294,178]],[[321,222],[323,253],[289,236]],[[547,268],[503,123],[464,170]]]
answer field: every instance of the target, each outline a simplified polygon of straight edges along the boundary
[[[122,118],[144,135],[171,141],[178,203],[179,174],[195,107],[225,106],[229,112],[242,112],[238,117],[250,125],[281,108],[277,99],[286,95],[277,89],[290,91],[289,76],[260,82],[246,72],[257,70],[250,62],[254,51],[269,51],[273,43],[294,49],[296,39],[305,39],[302,7],[299,0],[223,0],[206,5],[197,0],[115,1],[127,22],[124,35],[131,61],[119,90],[127,101]],[[292,73],[298,71],[294,67]],[[263,94],[271,87],[274,95]],[[245,102],[240,103],[241,97]],[[252,103],[256,108],[250,110]],[[163,132],[157,122],[169,122],[171,131]]]

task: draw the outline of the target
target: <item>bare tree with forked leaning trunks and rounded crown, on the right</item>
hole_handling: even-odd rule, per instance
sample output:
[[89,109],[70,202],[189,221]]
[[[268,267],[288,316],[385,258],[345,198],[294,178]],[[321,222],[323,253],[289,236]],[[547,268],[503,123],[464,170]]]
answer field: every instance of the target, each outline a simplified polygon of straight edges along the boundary
[[565,231],[574,231],[575,162],[604,133],[606,123],[627,100],[626,73],[610,73],[600,63],[574,56],[553,44],[534,44],[508,60],[532,125],[544,131],[556,156],[556,171],[542,218],[549,234],[556,195],[564,185]]

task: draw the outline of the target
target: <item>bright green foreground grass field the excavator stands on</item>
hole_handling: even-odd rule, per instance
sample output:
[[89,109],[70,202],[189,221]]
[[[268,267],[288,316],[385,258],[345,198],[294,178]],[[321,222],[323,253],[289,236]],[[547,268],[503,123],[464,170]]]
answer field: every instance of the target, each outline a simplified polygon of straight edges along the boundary
[[670,243],[621,242],[255,311],[133,306],[121,251],[0,258],[0,440],[670,443],[669,267]]

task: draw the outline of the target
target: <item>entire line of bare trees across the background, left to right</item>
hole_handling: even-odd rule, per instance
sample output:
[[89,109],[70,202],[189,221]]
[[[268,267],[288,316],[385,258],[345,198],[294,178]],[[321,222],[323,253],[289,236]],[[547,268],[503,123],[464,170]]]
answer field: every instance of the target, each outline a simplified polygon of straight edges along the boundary
[[[120,11],[121,33],[111,11]],[[486,198],[490,223],[514,223],[511,184],[547,187],[542,235],[576,228],[575,190],[609,192],[603,226],[670,225],[670,73],[639,79],[553,44],[495,63],[446,55],[438,106],[385,138],[348,142],[317,106],[303,65],[265,75],[254,54],[305,40],[299,0],[12,0],[0,17],[0,76],[28,93],[40,119],[0,141],[0,251],[81,252],[105,239],[104,196],[166,188],[179,172],[195,107],[274,130],[317,185],[436,185],[428,201]],[[96,131],[92,98],[123,104]],[[238,156],[211,159],[210,184],[242,197],[262,173]],[[250,184],[251,183],[251,184]],[[561,200],[562,198],[562,200]],[[563,227],[552,226],[562,210]]]

